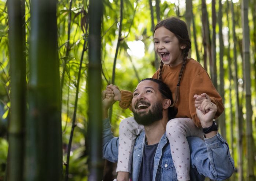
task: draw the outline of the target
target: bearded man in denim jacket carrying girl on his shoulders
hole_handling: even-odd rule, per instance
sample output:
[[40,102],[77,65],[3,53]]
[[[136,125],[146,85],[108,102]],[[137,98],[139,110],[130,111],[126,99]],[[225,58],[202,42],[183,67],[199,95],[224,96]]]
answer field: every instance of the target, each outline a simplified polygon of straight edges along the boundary
[[[133,92],[134,118],[144,125],[145,131],[136,138],[133,149],[132,181],[177,180],[169,141],[165,134],[169,117],[174,117],[176,114],[175,109],[170,107],[172,100],[166,95],[168,92],[170,92],[169,88],[163,82],[151,78],[143,79]],[[108,119],[108,109],[114,101],[113,98],[106,98],[102,103],[105,118],[103,120],[103,158],[117,162],[118,137],[113,137]],[[197,108],[197,116],[203,128],[213,125],[216,111],[217,106],[209,99],[205,99]],[[205,177],[225,180],[231,176],[234,172],[234,161],[226,141],[217,133],[217,129],[208,131],[204,135],[205,142],[197,137],[187,139],[191,153],[191,181],[203,181]],[[153,152],[148,146],[155,148]],[[145,173],[148,173],[148,176]]]

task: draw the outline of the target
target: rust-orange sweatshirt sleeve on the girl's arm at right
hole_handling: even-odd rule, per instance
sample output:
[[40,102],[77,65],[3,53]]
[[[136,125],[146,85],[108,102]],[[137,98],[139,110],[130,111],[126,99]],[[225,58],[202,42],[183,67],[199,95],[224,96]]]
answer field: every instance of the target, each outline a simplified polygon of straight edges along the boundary
[[189,111],[192,119],[195,120],[196,126],[202,127],[199,118],[196,115],[195,94],[200,95],[206,93],[209,95],[211,102],[217,105],[218,110],[214,118],[218,118],[224,110],[222,98],[218,91],[211,82],[211,79],[206,71],[202,71],[195,75],[191,80],[191,86],[189,91]]

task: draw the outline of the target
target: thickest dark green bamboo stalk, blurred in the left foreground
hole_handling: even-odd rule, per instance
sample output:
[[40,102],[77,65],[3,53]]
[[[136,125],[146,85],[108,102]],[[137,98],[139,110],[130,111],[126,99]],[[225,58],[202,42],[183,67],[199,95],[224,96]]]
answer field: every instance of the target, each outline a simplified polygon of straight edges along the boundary
[[53,0],[31,0],[26,181],[62,180],[56,3]]

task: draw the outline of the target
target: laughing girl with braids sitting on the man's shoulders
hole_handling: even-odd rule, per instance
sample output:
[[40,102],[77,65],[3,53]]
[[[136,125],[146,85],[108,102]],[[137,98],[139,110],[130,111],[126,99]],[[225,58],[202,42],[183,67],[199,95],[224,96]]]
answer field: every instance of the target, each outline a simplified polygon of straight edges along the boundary
[[[190,180],[190,152],[186,137],[202,136],[196,107],[200,107],[203,99],[211,99],[218,106],[217,118],[224,110],[222,98],[204,68],[196,60],[187,58],[191,41],[184,21],[176,17],[160,21],[155,27],[154,42],[161,65],[153,78],[160,79],[169,86],[174,94],[172,106],[178,108],[176,118],[167,123],[166,135],[170,142],[177,179],[187,181]],[[124,109],[129,107],[132,100],[131,92],[119,91],[113,85],[107,86],[106,96],[120,101],[119,105]],[[135,138],[142,130],[143,126],[131,118],[120,123],[118,181],[128,180]]]

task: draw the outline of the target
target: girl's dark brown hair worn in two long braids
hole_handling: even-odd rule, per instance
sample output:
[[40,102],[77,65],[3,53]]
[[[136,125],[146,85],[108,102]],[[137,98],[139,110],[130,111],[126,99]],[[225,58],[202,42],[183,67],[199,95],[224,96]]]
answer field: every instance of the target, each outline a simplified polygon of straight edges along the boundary
[[[191,48],[191,41],[190,41],[189,35],[188,35],[187,24],[184,21],[178,19],[177,17],[171,17],[171,18],[160,21],[155,26],[155,30],[160,27],[165,27],[166,29],[171,31],[176,36],[176,38],[179,40],[179,43],[186,46],[184,49],[182,49],[183,64],[182,64],[182,67],[180,70],[180,74],[178,76],[178,83],[177,83],[177,87],[175,90],[174,102],[172,103],[172,106],[174,106],[178,101],[178,95],[179,95],[179,91],[180,91],[180,80],[181,80],[182,72],[183,72],[185,64],[186,64],[186,60],[188,58],[189,50]],[[154,32],[155,32],[155,30],[154,30]],[[158,75],[159,80],[162,80],[162,68],[163,68],[163,62],[161,61],[161,64],[159,67],[159,75]]]

